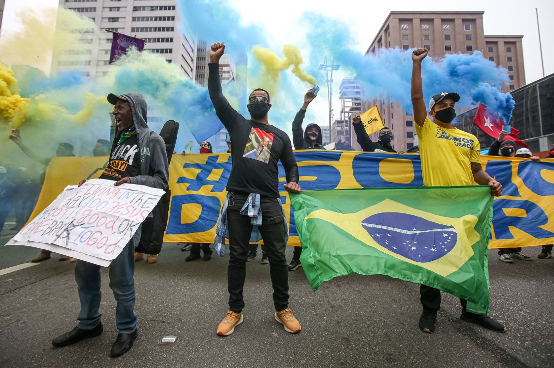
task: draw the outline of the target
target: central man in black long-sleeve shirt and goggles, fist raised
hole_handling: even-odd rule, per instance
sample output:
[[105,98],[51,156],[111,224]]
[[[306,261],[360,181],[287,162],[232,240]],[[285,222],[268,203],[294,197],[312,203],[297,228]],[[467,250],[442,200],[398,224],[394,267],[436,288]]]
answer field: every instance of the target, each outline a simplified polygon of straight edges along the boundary
[[[289,275],[285,258],[288,234],[280,202],[277,163],[281,160],[283,164],[288,183],[284,187],[290,193],[300,193],[297,184],[298,167],[290,138],[285,132],[269,125],[268,111],[271,105],[268,92],[256,89],[250,94],[250,120],[235,111],[223,96],[219,81],[219,59],[224,50],[223,43],[213,44],[208,65],[209,96],[219,120],[229,132],[233,159],[227,182],[229,195],[220,218],[220,221],[226,223],[229,232],[229,311],[219,324],[217,334],[230,335],[235,326],[243,321],[245,262],[253,225],[258,225],[269,257],[275,319],[283,324],[286,331],[297,333],[300,323],[288,307]],[[224,214],[225,208],[227,210]]]

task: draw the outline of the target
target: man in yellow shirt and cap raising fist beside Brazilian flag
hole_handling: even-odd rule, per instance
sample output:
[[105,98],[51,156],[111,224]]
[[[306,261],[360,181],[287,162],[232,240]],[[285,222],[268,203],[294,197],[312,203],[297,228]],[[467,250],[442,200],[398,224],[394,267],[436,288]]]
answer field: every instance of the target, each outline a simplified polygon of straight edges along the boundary
[[[490,185],[494,195],[502,194],[502,185],[496,182],[481,167],[479,158],[479,141],[470,133],[452,126],[456,116],[454,104],[460,96],[454,92],[441,92],[429,101],[429,119],[423,100],[421,80],[421,63],[427,56],[427,49],[416,49],[412,53],[412,105],[416,132],[419,139],[419,154],[421,170],[425,186],[458,186]],[[419,328],[427,333],[433,333],[437,312],[440,309],[440,291],[422,285],[420,288],[423,313],[419,319]],[[468,312],[468,301],[460,299],[462,311],[460,319],[484,326],[485,328],[504,332],[506,328],[501,323],[490,318],[484,311]],[[472,312],[479,308],[471,305]]]

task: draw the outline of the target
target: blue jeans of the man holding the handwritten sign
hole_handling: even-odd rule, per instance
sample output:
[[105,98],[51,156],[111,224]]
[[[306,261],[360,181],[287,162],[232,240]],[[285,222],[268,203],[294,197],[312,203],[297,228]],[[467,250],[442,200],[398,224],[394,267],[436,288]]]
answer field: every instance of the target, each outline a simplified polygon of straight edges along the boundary
[[[110,265],[110,288],[114,293],[117,307],[115,324],[119,333],[130,334],[137,328],[135,312],[135,242],[138,244],[141,228],[135,233],[135,240],[127,243],[119,256]],[[85,261],[77,261],[75,281],[81,301],[81,312],[77,327],[91,330],[100,323],[100,266]]]

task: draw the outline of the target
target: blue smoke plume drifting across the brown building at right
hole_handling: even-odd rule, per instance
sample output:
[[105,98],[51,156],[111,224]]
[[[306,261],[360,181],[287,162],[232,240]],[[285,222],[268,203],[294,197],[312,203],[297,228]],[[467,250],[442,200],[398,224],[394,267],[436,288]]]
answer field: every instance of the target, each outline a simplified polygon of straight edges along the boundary
[[[322,55],[334,58],[342,70],[360,80],[365,99],[389,96],[408,113],[412,112],[412,50],[381,49],[377,54],[361,55],[349,48],[355,37],[348,24],[312,12],[302,18],[311,30],[307,33],[312,50],[308,71],[315,72]],[[427,57],[422,63],[422,77],[426,101],[442,91],[458,92],[461,97],[458,106],[485,103],[489,110],[510,121],[515,102],[510,94],[501,92],[502,84],[508,83],[507,71],[483,58],[479,51],[450,54],[440,60]]]

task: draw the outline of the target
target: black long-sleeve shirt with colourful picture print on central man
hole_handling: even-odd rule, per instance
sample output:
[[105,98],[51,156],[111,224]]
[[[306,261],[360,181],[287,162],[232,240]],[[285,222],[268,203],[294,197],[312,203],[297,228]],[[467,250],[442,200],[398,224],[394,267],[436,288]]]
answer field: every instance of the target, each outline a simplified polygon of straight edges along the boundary
[[209,64],[208,90],[217,116],[229,132],[233,165],[227,190],[279,198],[281,160],[287,182],[298,182],[298,167],[289,136],[272,125],[248,120],[223,96],[219,64]]

